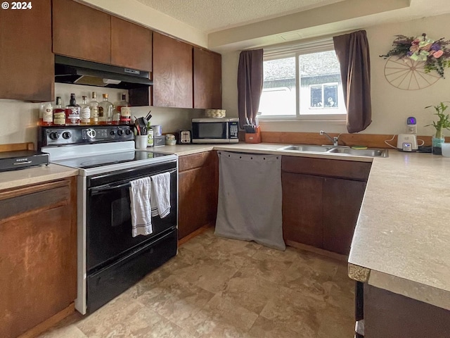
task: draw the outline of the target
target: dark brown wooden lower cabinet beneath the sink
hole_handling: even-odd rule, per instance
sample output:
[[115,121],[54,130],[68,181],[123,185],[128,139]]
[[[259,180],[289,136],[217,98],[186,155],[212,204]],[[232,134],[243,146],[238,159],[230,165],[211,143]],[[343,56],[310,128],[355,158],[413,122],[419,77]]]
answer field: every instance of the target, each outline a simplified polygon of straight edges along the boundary
[[371,163],[283,156],[283,237],[348,255]]

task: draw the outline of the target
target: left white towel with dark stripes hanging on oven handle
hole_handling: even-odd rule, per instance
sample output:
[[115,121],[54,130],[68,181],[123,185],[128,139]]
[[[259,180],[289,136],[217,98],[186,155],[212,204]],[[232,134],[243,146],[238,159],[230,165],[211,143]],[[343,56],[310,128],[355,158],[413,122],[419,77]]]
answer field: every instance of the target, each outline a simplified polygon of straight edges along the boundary
[[147,235],[153,232],[152,211],[150,206],[150,177],[130,181],[129,198],[131,201],[131,230],[133,237],[139,234]]

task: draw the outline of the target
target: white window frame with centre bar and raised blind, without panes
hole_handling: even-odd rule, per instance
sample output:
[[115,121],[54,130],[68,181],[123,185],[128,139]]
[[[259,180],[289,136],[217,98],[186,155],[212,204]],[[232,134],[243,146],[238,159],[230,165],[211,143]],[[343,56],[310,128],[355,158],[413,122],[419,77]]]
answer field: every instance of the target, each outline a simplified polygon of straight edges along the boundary
[[[333,38],[321,39],[311,42],[304,42],[289,46],[274,46],[264,48],[264,61],[276,60],[279,58],[295,57],[295,115],[258,115],[259,120],[262,121],[345,121],[347,120],[347,112],[345,113],[300,113],[300,70],[299,70],[299,56],[303,54],[319,53],[321,51],[333,51]],[[342,92],[342,83],[338,84]],[[339,93],[339,91],[338,91]],[[310,99],[309,99],[310,100]],[[345,111],[345,102],[343,96],[338,101],[340,109]],[[309,104],[307,105],[309,106]],[[317,108],[309,108],[317,109]],[[330,109],[330,108],[326,108]]]

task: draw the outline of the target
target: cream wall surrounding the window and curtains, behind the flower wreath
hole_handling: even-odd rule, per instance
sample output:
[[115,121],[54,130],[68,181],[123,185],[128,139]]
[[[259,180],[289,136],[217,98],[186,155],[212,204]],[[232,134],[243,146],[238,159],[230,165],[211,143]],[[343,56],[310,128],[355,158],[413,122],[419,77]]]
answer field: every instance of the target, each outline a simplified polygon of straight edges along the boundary
[[[425,127],[435,120],[434,109],[425,106],[450,101],[450,68],[446,68],[446,79],[440,79],[432,86],[420,90],[401,90],[393,87],[384,75],[386,61],[379,55],[386,54],[392,48],[394,35],[416,36],[423,32],[432,39],[445,37],[450,39],[450,15],[411,20],[404,23],[378,25],[364,28],[367,31],[371,52],[371,94],[372,120],[364,130],[366,134],[399,134],[406,131],[406,118],[417,118],[418,134],[432,135],[434,129]],[[238,107],[237,71],[240,51],[231,51],[222,55],[222,83],[224,108],[236,112]],[[231,115],[231,114],[230,114]],[[281,132],[347,132],[345,123],[338,122],[262,122],[263,131]],[[450,135],[450,132],[446,132]]]

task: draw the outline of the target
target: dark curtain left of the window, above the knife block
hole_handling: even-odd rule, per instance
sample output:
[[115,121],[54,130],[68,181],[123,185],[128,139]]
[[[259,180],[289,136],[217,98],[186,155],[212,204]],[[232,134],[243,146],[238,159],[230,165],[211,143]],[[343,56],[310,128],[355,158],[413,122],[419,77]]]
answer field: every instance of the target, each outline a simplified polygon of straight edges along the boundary
[[262,49],[241,51],[238,67],[238,116],[243,128],[245,118],[255,120],[262,93]]

